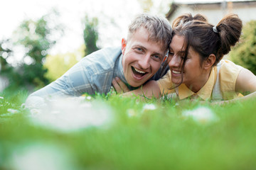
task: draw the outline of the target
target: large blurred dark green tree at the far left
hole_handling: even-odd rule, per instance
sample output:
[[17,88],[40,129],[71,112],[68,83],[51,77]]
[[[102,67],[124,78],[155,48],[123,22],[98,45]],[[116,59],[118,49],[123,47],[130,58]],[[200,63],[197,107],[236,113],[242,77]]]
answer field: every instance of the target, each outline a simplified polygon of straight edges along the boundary
[[48,50],[53,47],[58,38],[55,35],[63,33],[60,25],[54,23],[53,18],[58,13],[46,14],[36,21],[28,19],[23,21],[15,31],[16,45],[22,45],[26,50],[23,62],[17,67],[22,79],[19,86],[33,85],[42,87],[49,83],[45,77],[47,69],[43,67],[43,62],[48,55]]

